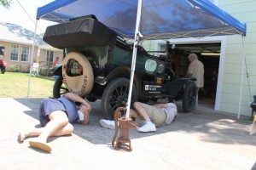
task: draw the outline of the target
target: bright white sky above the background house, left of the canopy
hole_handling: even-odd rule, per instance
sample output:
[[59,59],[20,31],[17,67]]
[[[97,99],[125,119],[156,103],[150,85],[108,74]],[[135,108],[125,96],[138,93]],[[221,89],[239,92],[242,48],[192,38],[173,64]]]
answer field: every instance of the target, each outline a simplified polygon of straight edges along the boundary
[[[3,6],[0,6],[0,21],[16,24],[30,31],[35,31],[38,7],[42,7],[45,4],[51,3],[53,1],[54,0],[13,0],[10,8],[3,8]],[[20,4],[22,7],[20,6]],[[26,10],[26,12],[23,8]],[[38,20],[37,33],[40,34],[44,32],[47,26],[51,26],[54,24],[54,22]]]

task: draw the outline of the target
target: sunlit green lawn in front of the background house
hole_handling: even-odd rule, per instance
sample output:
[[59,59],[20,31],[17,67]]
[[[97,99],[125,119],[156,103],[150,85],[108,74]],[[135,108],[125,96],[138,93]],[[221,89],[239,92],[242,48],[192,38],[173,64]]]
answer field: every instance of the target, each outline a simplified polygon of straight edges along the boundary
[[[0,98],[26,98],[29,82],[28,73],[0,73]],[[55,81],[45,77],[31,77],[30,98],[52,97]]]

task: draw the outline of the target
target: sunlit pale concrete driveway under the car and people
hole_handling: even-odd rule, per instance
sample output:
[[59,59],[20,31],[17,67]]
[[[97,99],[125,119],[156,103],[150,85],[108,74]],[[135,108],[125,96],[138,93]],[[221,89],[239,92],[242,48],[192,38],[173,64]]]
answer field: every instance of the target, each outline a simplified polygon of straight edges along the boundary
[[87,126],[72,135],[51,137],[51,153],[20,144],[21,129],[38,127],[41,99],[0,98],[0,169],[256,169],[256,134],[252,121],[199,107],[183,113],[155,133],[130,130],[131,152],[113,150],[113,130],[100,126],[100,102],[91,103]]

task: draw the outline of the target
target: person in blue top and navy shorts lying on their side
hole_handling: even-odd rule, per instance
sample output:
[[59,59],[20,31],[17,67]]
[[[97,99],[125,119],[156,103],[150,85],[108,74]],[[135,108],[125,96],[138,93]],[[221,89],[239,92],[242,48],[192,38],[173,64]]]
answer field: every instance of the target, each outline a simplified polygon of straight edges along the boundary
[[[82,105],[77,107],[75,102]],[[43,99],[39,108],[39,122],[42,127],[20,132],[18,139],[23,142],[26,137],[38,136],[29,141],[33,148],[50,152],[46,140],[49,136],[62,136],[73,133],[71,123],[87,124],[90,119],[90,104],[77,94],[67,93],[58,99]],[[84,120],[79,120],[78,111],[84,113]]]

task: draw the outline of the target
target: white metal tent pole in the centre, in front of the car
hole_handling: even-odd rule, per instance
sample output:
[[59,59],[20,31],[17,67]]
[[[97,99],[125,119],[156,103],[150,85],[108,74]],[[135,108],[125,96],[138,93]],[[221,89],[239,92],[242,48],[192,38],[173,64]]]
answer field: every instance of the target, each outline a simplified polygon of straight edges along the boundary
[[137,19],[136,19],[134,41],[133,41],[134,43],[133,43],[132,60],[131,60],[131,78],[130,78],[128,101],[126,104],[125,118],[129,118],[129,114],[130,114],[132,85],[133,85],[134,71],[135,71],[136,58],[137,58],[137,45],[139,43],[139,38],[140,38],[139,29],[140,29],[140,23],[141,23],[142,6],[143,6],[143,0],[138,0],[137,1]]

